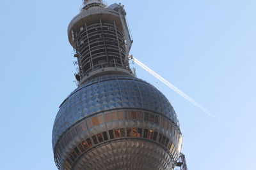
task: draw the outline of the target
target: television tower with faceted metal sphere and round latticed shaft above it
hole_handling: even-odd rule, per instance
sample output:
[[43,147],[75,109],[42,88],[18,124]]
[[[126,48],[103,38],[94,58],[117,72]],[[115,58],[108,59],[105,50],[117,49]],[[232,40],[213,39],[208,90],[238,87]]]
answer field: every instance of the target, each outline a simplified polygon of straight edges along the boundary
[[125,16],[121,4],[84,0],[68,25],[78,87],[60,105],[52,129],[58,169],[173,170],[180,164],[179,120],[168,99],[132,72]]

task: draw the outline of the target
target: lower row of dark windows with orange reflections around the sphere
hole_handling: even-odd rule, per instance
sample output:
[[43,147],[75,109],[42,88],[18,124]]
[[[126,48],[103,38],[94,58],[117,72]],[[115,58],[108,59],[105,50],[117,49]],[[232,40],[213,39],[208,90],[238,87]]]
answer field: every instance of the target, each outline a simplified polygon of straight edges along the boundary
[[[81,155],[81,153],[85,152],[89,148],[103,141],[108,141],[109,139],[117,139],[117,138],[145,138],[156,141],[157,143],[161,143],[164,145],[173,155],[174,160],[177,159],[178,153],[173,145],[170,142],[170,139],[164,136],[161,133],[153,131],[151,129],[142,129],[137,127],[127,127],[120,129],[112,129],[109,131],[105,131],[96,135],[93,135],[91,138],[87,138],[86,140],[79,143],[73,150],[68,154],[67,159],[65,160],[65,168],[70,170],[73,162]],[[169,143],[170,142],[170,143]],[[168,145],[169,143],[169,145]]]

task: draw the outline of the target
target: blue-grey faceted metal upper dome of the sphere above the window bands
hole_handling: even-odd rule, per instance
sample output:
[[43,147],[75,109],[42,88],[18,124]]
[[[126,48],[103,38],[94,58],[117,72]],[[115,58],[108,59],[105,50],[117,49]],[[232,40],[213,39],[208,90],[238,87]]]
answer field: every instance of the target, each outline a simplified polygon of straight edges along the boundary
[[180,127],[172,105],[156,87],[132,76],[99,76],[78,87],[61,104],[52,130],[53,149],[60,136],[79,120],[120,108],[154,111]]

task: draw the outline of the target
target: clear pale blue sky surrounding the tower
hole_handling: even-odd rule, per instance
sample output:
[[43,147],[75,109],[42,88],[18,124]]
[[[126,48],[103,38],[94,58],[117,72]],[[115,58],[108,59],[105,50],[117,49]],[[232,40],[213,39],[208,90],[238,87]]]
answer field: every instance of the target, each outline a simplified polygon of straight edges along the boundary
[[[189,170],[255,169],[256,1],[122,3],[131,53],[230,126],[224,127],[135,65],[170,100]],[[57,169],[52,125],[76,88],[67,26],[80,0],[1,0],[0,164]]]

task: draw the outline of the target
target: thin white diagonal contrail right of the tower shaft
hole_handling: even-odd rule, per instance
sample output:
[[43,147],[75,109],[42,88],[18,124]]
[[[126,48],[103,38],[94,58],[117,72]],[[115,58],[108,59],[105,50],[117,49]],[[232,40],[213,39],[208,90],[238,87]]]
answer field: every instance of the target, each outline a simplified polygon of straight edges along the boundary
[[170,87],[170,89],[172,89],[173,91],[177,92],[177,94],[179,94],[180,96],[184,97],[187,101],[189,101],[190,103],[194,104],[197,108],[199,108],[200,110],[204,111],[204,113],[206,113],[207,115],[209,115],[210,117],[214,118],[215,120],[217,120],[218,122],[220,122],[221,124],[225,125],[226,127],[228,127],[227,124],[225,124],[224,122],[222,122],[219,118],[215,117],[214,115],[212,115],[212,113],[210,113],[207,109],[205,109],[203,106],[201,106],[199,103],[197,103],[194,99],[192,99],[191,97],[189,97],[187,94],[185,94],[184,92],[182,92],[181,90],[179,90],[177,87],[175,87],[175,85],[173,85],[172,83],[169,83],[167,80],[165,80],[163,77],[161,77],[159,74],[157,74],[155,71],[153,71],[152,69],[148,68],[145,64],[143,64],[142,62],[140,62],[140,60],[136,59],[135,57],[132,57],[132,59],[134,60],[134,62],[136,64],[138,64],[139,66],[141,66],[143,69],[145,69],[146,71],[148,71],[148,73],[152,74],[153,76],[155,76],[158,80],[162,81],[165,85],[167,85],[168,87]]

